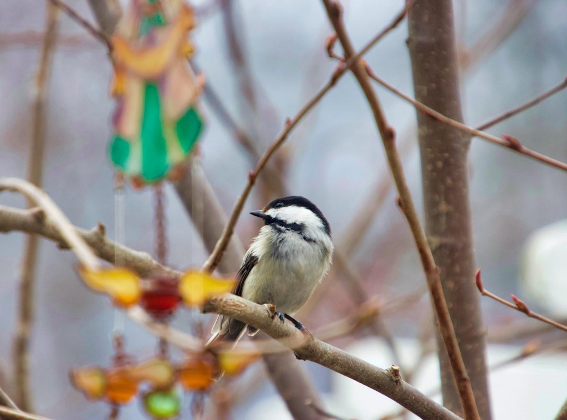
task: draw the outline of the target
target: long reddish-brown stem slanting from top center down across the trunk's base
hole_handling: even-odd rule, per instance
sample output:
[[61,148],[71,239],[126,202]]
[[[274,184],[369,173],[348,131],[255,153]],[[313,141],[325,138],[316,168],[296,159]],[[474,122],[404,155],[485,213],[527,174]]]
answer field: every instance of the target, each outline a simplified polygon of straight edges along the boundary
[[[354,47],[342,20],[341,6],[336,1],[332,0],[323,0],[323,4],[327,10],[329,20],[331,20],[331,24],[333,25],[333,28],[335,28],[338,40],[341,42],[342,49],[345,52],[345,58],[354,56]],[[380,105],[378,97],[371,86],[365,66],[362,62],[357,61],[351,70],[357,78],[362,91],[366,95],[366,99],[373,111],[380,137],[382,137],[388,159],[388,165],[390,166],[397,192],[400,196],[399,202],[401,204],[401,210],[408,220],[417,250],[420,254],[421,263],[431,294],[431,300],[433,301],[433,306],[439,322],[439,331],[441,332],[443,342],[447,349],[448,358],[455,376],[465,416],[467,420],[480,419],[479,412],[476,408],[475,396],[472,392],[471,380],[469,379],[467,370],[464,366],[463,357],[460,353],[459,344],[447,309],[445,296],[443,295],[441,279],[439,278],[439,269],[435,266],[431,249],[429,248],[428,241],[425,237],[425,232],[421,227],[411,193],[409,192],[407,181],[405,180],[404,169],[401,166],[400,156],[396,149],[394,130],[386,121],[382,105]]]

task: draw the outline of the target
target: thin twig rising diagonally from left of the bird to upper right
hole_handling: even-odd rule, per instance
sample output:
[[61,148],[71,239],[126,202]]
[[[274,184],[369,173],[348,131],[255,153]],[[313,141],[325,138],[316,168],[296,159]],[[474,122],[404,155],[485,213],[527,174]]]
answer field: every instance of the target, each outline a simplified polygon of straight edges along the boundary
[[323,86],[316,94],[313,96],[303,107],[299,110],[297,114],[295,114],[294,118],[291,120],[288,119],[285,124],[285,128],[280,135],[274,140],[272,145],[268,147],[268,150],[264,152],[262,157],[260,158],[259,162],[256,165],[256,168],[249,172],[248,174],[248,183],[244,187],[242,194],[236,204],[234,209],[232,209],[232,213],[229,218],[229,222],[226,224],[225,229],[222,232],[221,237],[219,237],[217,244],[215,245],[213,252],[211,252],[208,260],[203,265],[203,270],[208,271],[209,273],[212,272],[215,267],[218,265],[219,261],[221,261],[223,252],[225,251],[227,245],[229,244],[230,237],[234,232],[234,226],[240,213],[242,213],[242,209],[244,207],[244,203],[252,190],[252,187],[256,181],[256,177],[258,173],[264,168],[266,162],[270,159],[270,157],[274,154],[274,152],[281,146],[281,144],[287,138],[287,135],[290,133],[291,130],[298,124],[298,122],[313,108],[319,100],[333,87],[335,86],[337,80],[345,74],[345,72],[350,69],[351,66],[354,65],[355,62],[358,61],[360,57],[363,56],[376,42],[378,42],[384,35],[394,29],[400,22],[403,20],[405,14],[407,13],[407,8],[404,7],[403,10],[399,12],[395,16],[388,26],[386,26],[382,31],[378,33],[358,54],[352,54],[353,56],[350,57],[349,60],[346,61],[344,66],[337,67],[335,73],[333,73],[331,80],[325,86]]

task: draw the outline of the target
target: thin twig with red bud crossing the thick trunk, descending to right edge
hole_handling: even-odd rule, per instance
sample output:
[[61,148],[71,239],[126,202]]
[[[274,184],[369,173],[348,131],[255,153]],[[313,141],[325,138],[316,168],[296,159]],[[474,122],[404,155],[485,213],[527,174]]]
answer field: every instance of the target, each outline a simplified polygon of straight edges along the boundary
[[456,128],[456,129],[459,129],[459,130],[465,131],[466,133],[472,134],[473,136],[484,138],[485,140],[488,140],[489,142],[496,143],[497,145],[506,147],[507,149],[514,150],[514,151],[516,151],[520,154],[523,154],[523,155],[526,155],[530,158],[539,160],[540,162],[547,163],[548,165],[555,166],[556,168],[562,169],[563,171],[567,171],[567,163],[560,162],[559,160],[550,158],[549,156],[546,156],[546,155],[543,155],[543,154],[536,152],[534,150],[528,149],[527,147],[523,146],[518,141],[518,139],[511,137],[509,135],[505,135],[505,136],[503,136],[503,138],[498,138],[498,137],[496,137],[492,134],[488,134],[488,133],[485,133],[484,131],[480,131],[480,130],[477,130],[475,128],[469,127],[468,125],[463,124],[462,122],[452,120],[451,118],[443,115],[442,113],[439,113],[439,112],[435,111],[434,109],[429,108],[427,105],[422,104],[420,101],[413,99],[413,97],[404,94],[399,89],[393,87],[390,83],[387,83],[383,79],[379,78],[376,74],[374,74],[374,72],[370,69],[370,67],[366,66],[366,71],[367,71],[368,75],[370,76],[370,78],[376,80],[376,82],[380,83],[387,90],[393,92],[393,94],[396,94],[397,96],[401,97],[402,99],[408,101],[414,107],[425,112],[430,117],[433,117],[436,120],[443,122],[443,124],[450,125],[450,126]]

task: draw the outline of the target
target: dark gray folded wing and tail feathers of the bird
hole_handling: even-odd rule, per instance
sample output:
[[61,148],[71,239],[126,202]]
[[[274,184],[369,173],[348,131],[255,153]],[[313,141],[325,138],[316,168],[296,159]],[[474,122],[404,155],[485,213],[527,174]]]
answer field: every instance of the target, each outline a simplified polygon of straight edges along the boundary
[[[238,273],[236,273],[237,282],[234,290],[232,290],[233,294],[235,294],[236,296],[242,296],[244,282],[246,281],[248,275],[256,266],[258,261],[259,257],[253,255],[251,251],[248,251],[246,253],[246,256],[244,256],[244,261],[242,262]],[[213,325],[213,329],[211,329],[213,337],[210,338],[207,345],[217,340],[238,341],[238,339],[242,336],[245,326],[246,324],[241,321],[219,315]],[[253,335],[256,332],[257,330],[255,328],[249,327],[248,334]]]

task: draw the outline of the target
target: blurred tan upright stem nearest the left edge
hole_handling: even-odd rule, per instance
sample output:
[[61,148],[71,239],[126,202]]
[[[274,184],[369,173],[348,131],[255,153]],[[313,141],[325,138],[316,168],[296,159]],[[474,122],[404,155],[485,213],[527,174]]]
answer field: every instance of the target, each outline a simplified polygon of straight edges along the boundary
[[[35,79],[35,97],[32,103],[32,135],[29,141],[27,179],[30,183],[41,186],[43,155],[45,145],[45,113],[47,86],[54,47],[59,31],[58,7],[46,2],[45,36],[37,65]],[[32,202],[28,200],[28,208]],[[14,366],[16,400],[25,411],[33,411],[31,387],[29,383],[29,337],[31,336],[35,306],[35,272],[38,252],[36,235],[27,235],[19,282],[18,321],[14,334]]]

